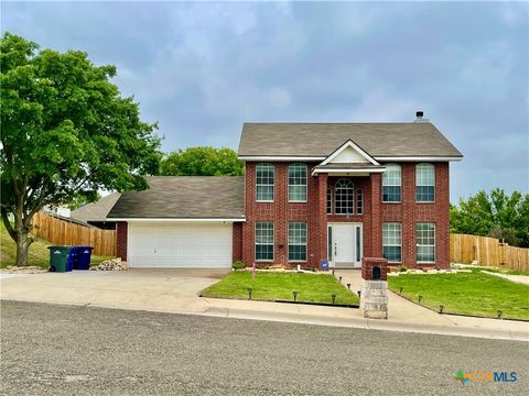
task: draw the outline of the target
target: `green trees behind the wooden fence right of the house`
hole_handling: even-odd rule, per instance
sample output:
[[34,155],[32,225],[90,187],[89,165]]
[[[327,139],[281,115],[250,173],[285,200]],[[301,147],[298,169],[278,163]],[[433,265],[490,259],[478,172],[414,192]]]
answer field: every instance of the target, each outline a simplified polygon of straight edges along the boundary
[[458,207],[450,209],[450,227],[452,232],[490,235],[529,248],[529,194],[514,191],[509,197],[495,188],[462,198]]

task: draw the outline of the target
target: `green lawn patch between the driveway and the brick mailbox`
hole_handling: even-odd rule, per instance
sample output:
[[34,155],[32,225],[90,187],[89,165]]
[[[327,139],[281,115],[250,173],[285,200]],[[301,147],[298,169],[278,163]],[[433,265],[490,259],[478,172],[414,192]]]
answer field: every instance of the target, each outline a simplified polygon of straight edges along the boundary
[[331,295],[335,294],[336,305],[358,305],[356,294],[327,274],[257,272],[253,280],[250,271],[234,271],[204,289],[202,296],[248,299],[248,287],[252,288],[252,299],[258,300],[293,300],[295,290],[300,302],[332,304]]

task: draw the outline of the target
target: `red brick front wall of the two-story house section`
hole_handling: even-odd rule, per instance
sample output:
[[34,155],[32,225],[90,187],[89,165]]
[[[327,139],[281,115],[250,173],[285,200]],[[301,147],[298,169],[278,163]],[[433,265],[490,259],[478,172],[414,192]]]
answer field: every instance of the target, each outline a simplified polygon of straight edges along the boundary
[[[381,175],[349,177],[356,188],[364,191],[364,213],[354,216],[326,215],[327,184],[334,186],[339,177],[326,175],[311,176],[309,165],[309,201],[290,204],[288,201],[288,166],[291,163],[274,163],[276,188],[274,202],[256,202],[256,163],[246,164],[246,222],[241,226],[241,257],[250,266],[255,261],[255,224],[259,220],[274,222],[274,260],[273,263],[295,267],[299,263],[288,262],[288,222],[307,222],[307,262],[304,267],[317,267],[327,256],[327,222],[361,222],[364,224],[364,256],[381,257],[382,222],[402,223],[402,263],[417,265],[415,223],[421,221],[435,223],[436,261],[439,267],[446,268],[449,258],[449,163],[435,164],[435,202],[415,204],[415,163],[402,163],[402,202],[381,202]],[[356,202],[355,202],[356,212]],[[234,226],[235,227],[235,226]],[[235,231],[234,231],[235,232]],[[234,233],[235,235],[235,233]],[[234,238],[235,241],[235,238]],[[283,248],[279,248],[279,243]],[[236,252],[234,244],[234,257]],[[235,260],[235,258],[234,258]],[[258,266],[270,265],[269,262],[257,263]],[[390,264],[391,265],[391,264]],[[421,264],[422,266],[422,264]]]

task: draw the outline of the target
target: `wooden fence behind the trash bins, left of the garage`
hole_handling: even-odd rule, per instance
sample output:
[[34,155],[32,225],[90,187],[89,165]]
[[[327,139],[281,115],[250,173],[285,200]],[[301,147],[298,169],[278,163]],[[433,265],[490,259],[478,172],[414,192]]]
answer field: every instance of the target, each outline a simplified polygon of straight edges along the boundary
[[94,254],[116,255],[116,231],[101,230],[37,212],[31,233],[56,245],[94,246]]

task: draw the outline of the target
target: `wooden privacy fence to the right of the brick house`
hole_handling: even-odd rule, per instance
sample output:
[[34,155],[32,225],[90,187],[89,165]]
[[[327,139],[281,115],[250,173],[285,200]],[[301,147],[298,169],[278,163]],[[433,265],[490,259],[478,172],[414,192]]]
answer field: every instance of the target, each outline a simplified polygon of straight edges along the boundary
[[496,238],[450,234],[450,261],[529,271],[529,249],[509,246]]

